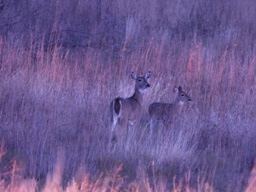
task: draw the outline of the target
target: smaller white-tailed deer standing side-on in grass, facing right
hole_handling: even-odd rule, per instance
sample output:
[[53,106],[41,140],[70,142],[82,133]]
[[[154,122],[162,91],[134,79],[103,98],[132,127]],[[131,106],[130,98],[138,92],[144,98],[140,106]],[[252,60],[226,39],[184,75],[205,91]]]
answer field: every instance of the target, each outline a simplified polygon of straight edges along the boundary
[[150,132],[153,132],[153,127],[156,122],[165,125],[173,123],[175,118],[180,115],[180,111],[184,102],[191,101],[188,95],[182,92],[182,87],[174,87],[173,91],[176,93],[174,103],[154,102],[148,107],[150,115]]

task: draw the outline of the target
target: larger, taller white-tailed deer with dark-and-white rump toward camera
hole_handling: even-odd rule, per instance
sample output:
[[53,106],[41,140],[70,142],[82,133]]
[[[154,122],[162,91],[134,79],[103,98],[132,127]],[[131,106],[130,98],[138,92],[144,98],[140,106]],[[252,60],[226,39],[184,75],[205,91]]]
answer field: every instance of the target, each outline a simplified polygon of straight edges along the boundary
[[141,104],[143,102],[143,96],[145,90],[150,87],[147,79],[151,76],[151,72],[147,72],[143,77],[137,77],[134,72],[131,74],[132,79],[135,81],[135,91],[132,97],[122,98],[117,97],[110,104],[110,115],[111,115],[111,139],[113,136],[113,131],[115,131],[116,124],[120,124],[120,129],[118,132],[122,134],[127,130],[128,126],[128,139],[132,134],[132,128],[137,127],[138,122],[141,118]]

